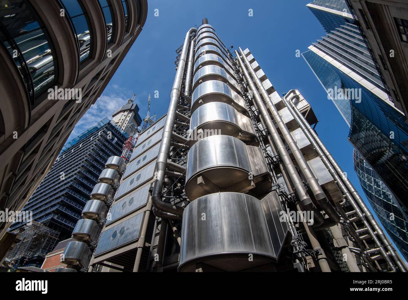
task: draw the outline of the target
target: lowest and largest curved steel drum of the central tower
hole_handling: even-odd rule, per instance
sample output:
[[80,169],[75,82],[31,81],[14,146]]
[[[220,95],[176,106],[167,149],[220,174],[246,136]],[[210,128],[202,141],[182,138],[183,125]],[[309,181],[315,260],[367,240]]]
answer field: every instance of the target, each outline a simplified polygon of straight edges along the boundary
[[255,197],[220,192],[197,198],[183,213],[180,266],[193,260],[205,262],[214,255],[243,253],[276,260],[273,242],[276,249],[282,245],[270,227],[274,224],[268,224],[262,203]]

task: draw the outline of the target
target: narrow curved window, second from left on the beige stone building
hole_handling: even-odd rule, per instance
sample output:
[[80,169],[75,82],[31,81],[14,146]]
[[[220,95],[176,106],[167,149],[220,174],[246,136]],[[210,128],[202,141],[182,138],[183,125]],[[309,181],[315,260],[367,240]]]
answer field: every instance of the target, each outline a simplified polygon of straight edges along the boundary
[[60,0],[67,11],[66,16],[71,18],[75,29],[75,36],[79,43],[80,62],[89,57],[92,48],[91,26],[88,22],[88,14],[82,9],[78,0]]

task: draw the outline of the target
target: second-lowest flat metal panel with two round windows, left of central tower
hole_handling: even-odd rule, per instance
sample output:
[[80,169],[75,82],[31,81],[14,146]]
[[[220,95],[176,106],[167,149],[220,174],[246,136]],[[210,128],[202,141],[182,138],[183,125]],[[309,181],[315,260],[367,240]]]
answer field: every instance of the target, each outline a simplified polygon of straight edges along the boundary
[[150,183],[146,184],[129,196],[113,204],[111,211],[109,211],[109,218],[107,218],[106,224],[110,224],[146,204],[149,200],[150,185]]

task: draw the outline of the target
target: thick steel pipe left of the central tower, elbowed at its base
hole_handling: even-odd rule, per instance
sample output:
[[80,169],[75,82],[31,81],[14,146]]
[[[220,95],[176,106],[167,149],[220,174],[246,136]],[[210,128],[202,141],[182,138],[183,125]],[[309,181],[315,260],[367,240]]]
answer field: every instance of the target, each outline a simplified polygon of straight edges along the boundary
[[[159,155],[156,161],[156,179],[153,185],[153,191],[151,199],[153,207],[155,208],[156,216],[163,218],[181,218],[184,208],[172,205],[162,201],[163,180],[166,175],[167,159],[169,158],[169,151],[171,147],[171,138],[173,134],[174,123],[177,115],[177,104],[180,98],[180,89],[182,86],[183,74],[186,64],[186,56],[188,51],[188,45],[190,43],[190,35],[193,32],[197,32],[196,28],[191,28],[186,33],[184,39],[182,53],[180,55],[180,61],[177,67],[177,72],[173,82],[173,88],[170,93],[170,105],[167,111],[166,122],[164,124],[162,141],[160,142]],[[191,41],[192,43],[193,41]],[[160,211],[160,212],[159,212]],[[157,214],[156,214],[157,213]]]

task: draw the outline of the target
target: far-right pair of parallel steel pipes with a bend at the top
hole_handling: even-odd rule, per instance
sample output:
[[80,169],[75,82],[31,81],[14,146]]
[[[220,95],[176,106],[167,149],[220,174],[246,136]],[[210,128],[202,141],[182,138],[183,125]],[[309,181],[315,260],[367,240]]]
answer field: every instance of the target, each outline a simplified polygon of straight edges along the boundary
[[[371,212],[368,210],[366,205],[364,204],[364,201],[361,199],[360,195],[358,192],[355,190],[353,187],[353,184],[348,180],[348,178],[344,178],[343,176],[343,170],[340,168],[339,164],[337,164],[336,160],[333,158],[333,156],[330,154],[328,149],[324,146],[323,142],[320,140],[319,136],[317,136],[316,132],[310,127],[302,113],[297,109],[295,104],[293,104],[292,99],[299,97],[296,95],[295,90],[290,90],[286,96],[282,100],[286,100],[286,97],[290,95],[290,93],[294,93],[295,96],[292,96],[288,100],[288,103],[290,104],[288,107],[291,107],[292,110],[295,112],[296,116],[299,118],[301,121],[299,123],[303,125],[303,127],[306,129],[302,130],[304,131],[306,137],[310,141],[310,143],[313,145],[315,148],[317,154],[319,157],[322,159],[323,163],[325,164],[326,168],[330,172],[330,174],[333,176],[333,178],[337,181],[337,184],[339,185],[339,188],[341,192],[346,196],[346,199],[350,202],[350,204],[353,206],[353,209],[356,211],[357,216],[361,219],[361,221],[364,223],[364,226],[366,226],[370,236],[373,238],[375,244],[377,247],[381,249],[381,254],[384,256],[384,259],[387,261],[387,263],[390,265],[391,269],[395,271],[395,266],[392,264],[392,262],[389,260],[389,255],[387,252],[389,252],[390,256],[392,257],[392,260],[397,264],[398,268],[400,269],[401,272],[405,272],[406,269],[402,262],[399,260],[397,255],[395,254],[394,249],[390,245],[389,240],[386,238],[384,232],[381,230],[381,228],[378,226],[377,222],[375,221],[373,215]],[[353,195],[353,196],[352,196]],[[357,203],[358,205],[357,205]],[[364,213],[362,213],[363,210]],[[371,229],[370,224],[373,226],[374,230]],[[379,241],[377,238],[375,232],[377,232],[379,238],[381,239],[381,242],[384,243],[386,249],[384,249],[383,244]],[[386,251],[387,250],[387,251]]]

